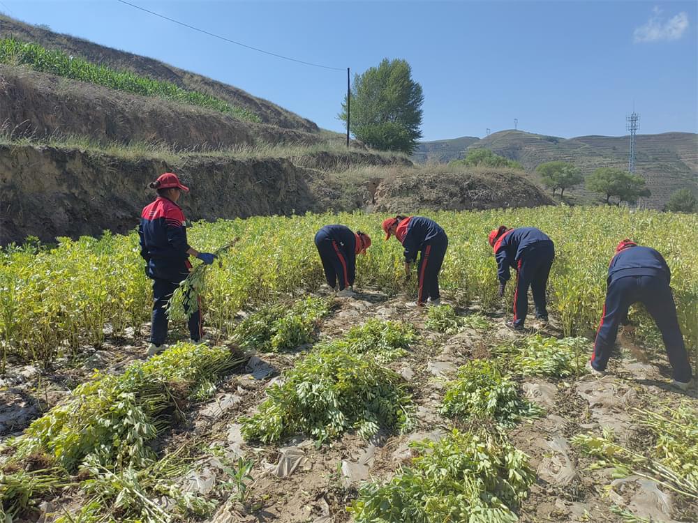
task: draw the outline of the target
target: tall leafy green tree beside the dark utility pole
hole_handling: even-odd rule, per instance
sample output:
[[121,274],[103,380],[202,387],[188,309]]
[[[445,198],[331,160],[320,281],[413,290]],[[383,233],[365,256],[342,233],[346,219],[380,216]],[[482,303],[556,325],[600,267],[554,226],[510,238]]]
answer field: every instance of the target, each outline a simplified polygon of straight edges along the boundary
[[[351,88],[352,134],[374,149],[412,153],[422,137],[422,86],[405,60],[383,59],[355,75]],[[339,119],[347,119],[346,96]]]

